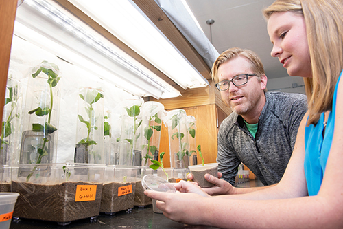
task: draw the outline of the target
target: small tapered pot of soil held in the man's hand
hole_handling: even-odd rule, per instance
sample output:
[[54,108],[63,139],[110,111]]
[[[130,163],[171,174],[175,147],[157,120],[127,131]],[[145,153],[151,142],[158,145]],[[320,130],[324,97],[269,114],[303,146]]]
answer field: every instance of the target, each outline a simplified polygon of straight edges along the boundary
[[204,175],[209,173],[214,177],[218,177],[218,163],[189,166],[189,171],[191,171],[191,174],[193,175],[193,182],[197,182],[201,188],[210,188],[215,185],[206,181]]

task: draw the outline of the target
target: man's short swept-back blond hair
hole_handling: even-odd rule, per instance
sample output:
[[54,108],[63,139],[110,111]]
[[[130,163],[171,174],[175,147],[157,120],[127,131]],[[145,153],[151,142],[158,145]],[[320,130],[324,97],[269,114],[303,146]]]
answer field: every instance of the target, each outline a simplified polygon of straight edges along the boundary
[[232,47],[220,54],[212,65],[211,76],[214,83],[218,83],[218,68],[222,63],[226,63],[237,57],[244,57],[249,61],[252,72],[257,74],[257,78],[261,80],[261,76],[265,75],[263,64],[259,56],[251,50],[243,50],[239,47]]

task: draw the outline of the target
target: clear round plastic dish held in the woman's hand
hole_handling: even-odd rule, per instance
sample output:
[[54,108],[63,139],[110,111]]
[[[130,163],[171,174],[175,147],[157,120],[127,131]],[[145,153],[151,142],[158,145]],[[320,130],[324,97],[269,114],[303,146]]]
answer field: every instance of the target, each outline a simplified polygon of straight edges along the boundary
[[173,184],[169,183],[167,180],[163,179],[162,177],[158,177],[155,175],[145,175],[142,179],[142,186],[143,188],[155,190],[158,192],[165,192],[165,193],[175,193],[176,188]]

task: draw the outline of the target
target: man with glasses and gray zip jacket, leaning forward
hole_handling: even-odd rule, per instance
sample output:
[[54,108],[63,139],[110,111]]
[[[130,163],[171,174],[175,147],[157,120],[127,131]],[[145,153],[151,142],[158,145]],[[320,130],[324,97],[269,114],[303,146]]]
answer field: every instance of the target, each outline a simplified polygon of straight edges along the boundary
[[[231,48],[220,54],[212,78],[230,114],[218,134],[218,171],[222,179],[210,195],[245,193],[260,188],[234,188],[237,168],[248,166],[265,185],[279,182],[292,155],[300,121],[307,111],[303,94],[266,92],[267,76],[255,52]],[[219,188],[218,188],[219,187]]]

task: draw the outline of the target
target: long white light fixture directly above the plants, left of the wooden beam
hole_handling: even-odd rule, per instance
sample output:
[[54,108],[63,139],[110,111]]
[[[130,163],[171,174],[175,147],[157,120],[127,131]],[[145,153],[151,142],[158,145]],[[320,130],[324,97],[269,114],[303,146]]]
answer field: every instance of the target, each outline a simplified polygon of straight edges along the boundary
[[17,10],[16,24],[15,34],[96,72],[134,95],[154,98],[180,95],[174,87],[54,2],[25,0]]

